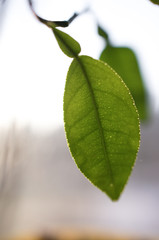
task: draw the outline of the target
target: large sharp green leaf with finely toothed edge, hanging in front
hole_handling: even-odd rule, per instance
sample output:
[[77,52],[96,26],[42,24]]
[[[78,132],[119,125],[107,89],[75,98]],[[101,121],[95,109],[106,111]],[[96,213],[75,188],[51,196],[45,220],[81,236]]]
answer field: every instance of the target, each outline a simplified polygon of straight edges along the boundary
[[107,64],[88,56],[73,60],[65,86],[64,122],[77,166],[117,200],[138,152],[139,119],[128,88]]

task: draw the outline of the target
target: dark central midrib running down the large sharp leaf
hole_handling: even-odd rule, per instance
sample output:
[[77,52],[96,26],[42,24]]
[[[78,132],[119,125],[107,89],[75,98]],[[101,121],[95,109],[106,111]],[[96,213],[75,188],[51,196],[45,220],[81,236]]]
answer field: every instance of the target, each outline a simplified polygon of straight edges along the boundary
[[115,184],[114,184],[114,177],[113,177],[113,171],[112,171],[112,168],[111,168],[111,164],[110,164],[110,160],[109,160],[109,155],[108,155],[108,152],[106,150],[106,141],[105,141],[105,138],[104,138],[104,134],[103,134],[103,128],[102,128],[102,123],[101,123],[101,120],[100,120],[100,117],[99,117],[99,112],[98,112],[98,107],[97,107],[97,103],[96,103],[96,99],[95,99],[95,96],[94,96],[94,92],[93,92],[93,89],[92,89],[92,86],[91,86],[91,83],[89,81],[89,77],[87,75],[87,72],[85,70],[85,67],[80,59],[80,57],[76,56],[76,60],[83,72],[83,75],[86,79],[86,82],[87,82],[87,85],[88,85],[88,88],[90,90],[90,94],[91,94],[91,97],[92,97],[92,101],[93,101],[93,105],[94,105],[94,109],[95,109],[95,114],[96,114],[96,120],[98,122],[98,126],[99,126],[99,132],[100,132],[100,135],[101,135],[101,140],[102,140],[102,146],[103,146],[103,149],[104,149],[104,155],[105,155],[105,159],[107,160],[107,166],[108,166],[108,169],[109,169],[109,175],[110,175],[110,178],[111,178],[111,183],[110,184],[113,184],[113,188],[114,188],[114,193],[115,193]]

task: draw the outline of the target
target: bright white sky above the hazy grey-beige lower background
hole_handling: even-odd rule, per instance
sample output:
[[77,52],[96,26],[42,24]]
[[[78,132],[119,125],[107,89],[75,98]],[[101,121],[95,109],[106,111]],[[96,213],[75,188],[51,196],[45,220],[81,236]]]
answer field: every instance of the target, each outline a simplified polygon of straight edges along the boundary
[[[81,54],[98,58],[104,43],[96,22],[116,46],[133,48],[152,99],[159,111],[159,7],[148,0],[34,0],[38,14],[67,20],[67,29],[81,45]],[[16,123],[49,130],[63,124],[63,92],[71,59],[59,49],[46,26],[33,16],[27,0],[8,0],[0,24],[0,127]],[[3,17],[3,19],[2,19]],[[3,21],[2,21],[3,20]]]

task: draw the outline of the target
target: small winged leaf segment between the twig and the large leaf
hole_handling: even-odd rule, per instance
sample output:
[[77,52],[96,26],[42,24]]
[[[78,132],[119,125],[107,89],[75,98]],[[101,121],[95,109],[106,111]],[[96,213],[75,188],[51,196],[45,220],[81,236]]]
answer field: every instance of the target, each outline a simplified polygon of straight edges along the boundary
[[81,47],[75,39],[56,28],[53,28],[52,30],[59,47],[68,57],[74,58],[80,53]]

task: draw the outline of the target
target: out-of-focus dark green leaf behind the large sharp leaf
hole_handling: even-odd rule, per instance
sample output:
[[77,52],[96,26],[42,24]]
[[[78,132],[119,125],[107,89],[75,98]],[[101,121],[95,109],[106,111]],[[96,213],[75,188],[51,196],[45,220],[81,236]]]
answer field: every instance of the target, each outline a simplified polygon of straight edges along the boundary
[[147,118],[146,91],[134,51],[127,47],[114,47],[109,41],[108,34],[104,35],[100,27],[98,32],[107,43],[100,59],[108,63],[121,76],[135,100],[140,119],[145,120]]

